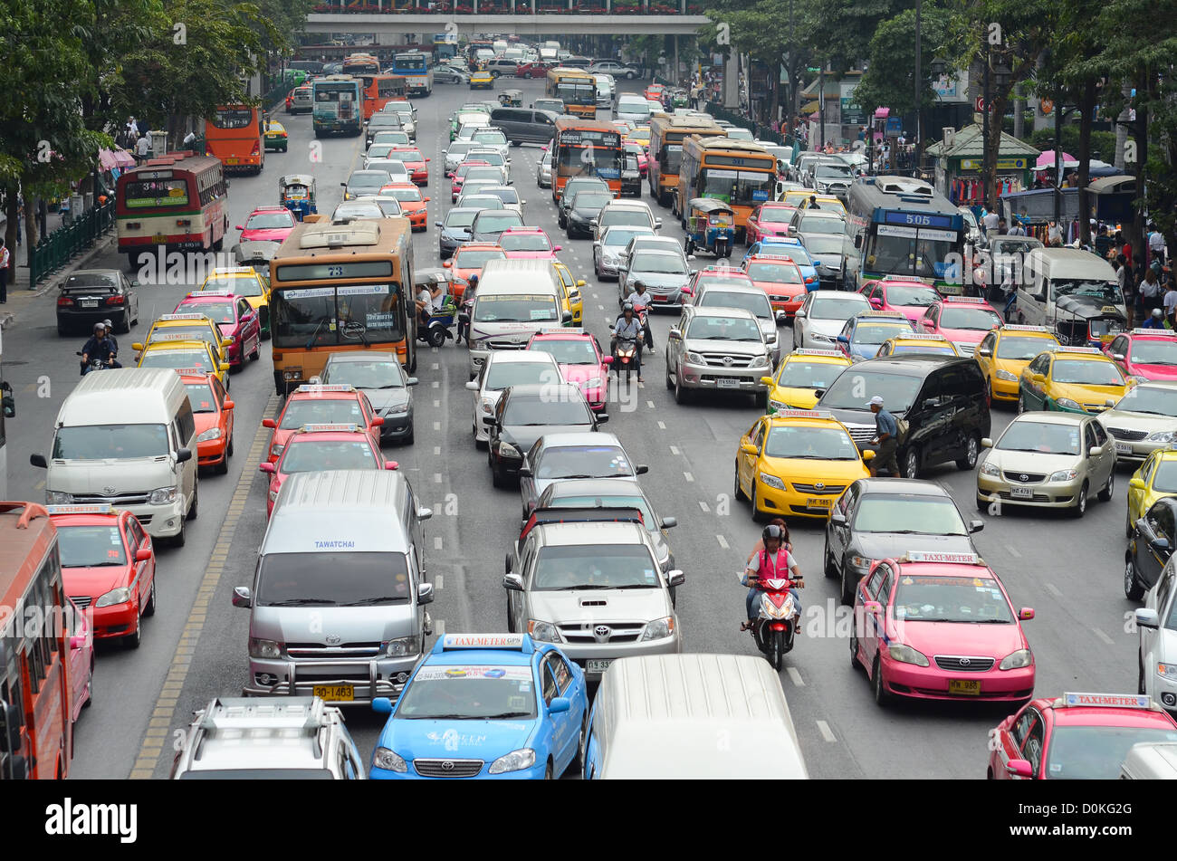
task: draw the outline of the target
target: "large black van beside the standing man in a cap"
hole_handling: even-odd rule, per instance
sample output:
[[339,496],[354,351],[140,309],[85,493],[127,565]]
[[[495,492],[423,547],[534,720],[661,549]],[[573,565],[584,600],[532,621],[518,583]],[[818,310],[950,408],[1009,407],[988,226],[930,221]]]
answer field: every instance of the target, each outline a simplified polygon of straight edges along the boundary
[[989,436],[989,386],[972,359],[936,355],[892,355],[846,368],[822,394],[818,409],[829,409],[850,430],[859,450],[876,449],[875,415],[867,401],[883,396],[883,407],[900,425],[899,473],[918,479],[926,466],[955,460],[960,469],[977,466],[980,440]]

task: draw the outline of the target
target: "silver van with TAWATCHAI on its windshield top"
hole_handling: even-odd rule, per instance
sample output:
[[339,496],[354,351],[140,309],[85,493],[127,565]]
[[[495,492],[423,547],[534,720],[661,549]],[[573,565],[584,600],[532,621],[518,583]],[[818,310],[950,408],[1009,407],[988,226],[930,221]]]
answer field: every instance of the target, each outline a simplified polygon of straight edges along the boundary
[[399,472],[295,473],[278,493],[258,552],[246,696],[395,700],[432,633],[421,521]]

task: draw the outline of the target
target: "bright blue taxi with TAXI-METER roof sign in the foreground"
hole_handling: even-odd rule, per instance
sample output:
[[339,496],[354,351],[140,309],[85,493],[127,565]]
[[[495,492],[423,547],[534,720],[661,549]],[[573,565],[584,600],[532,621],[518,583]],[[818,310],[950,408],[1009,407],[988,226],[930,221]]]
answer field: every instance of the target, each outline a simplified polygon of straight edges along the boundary
[[584,670],[527,634],[446,634],[395,705],[372,753],[373,780],[554,780],[581,760]]

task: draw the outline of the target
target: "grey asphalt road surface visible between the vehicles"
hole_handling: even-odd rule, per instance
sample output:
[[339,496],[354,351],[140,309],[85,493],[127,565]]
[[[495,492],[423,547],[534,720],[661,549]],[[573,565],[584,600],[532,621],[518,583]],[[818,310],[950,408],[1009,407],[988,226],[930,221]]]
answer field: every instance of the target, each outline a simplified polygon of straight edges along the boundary
[[[541,91],[538,81],[511,81],[510,86],[523,89],[525,101]],[[623,89],[640,87],[632,84]],[[438,265],[432,222],[450,206],[448,183],[440,169],[447,118],[459,104],[487,98],[492,94],[439,86],[432,98],[415,102],[418,142],[432,158],[426,192],[432,198],[430,228],[413,240],[420,267]],[[319,209],[330,213],[340,198],[339,183],[360,158],[360,139],[327,139],[321,141],[321,160],[315,161],[310,118],[280,119],[291,134],[290,152],[270,153],[260,176],[232,180],[231,223],[240,223],[254,206],[277,202],[278,176],[292,172],[317,175]],[[588,285],[585,326],[607,342],[606,326],[617,307],[616,282],[596,281],[587,240],[568,241],[558,231],[551,193],[536,187],[539,148],[511,152],[512,175],[527,201],[527,223],[544,227],[564,246],[559,256]],[[669,211],[660,214],[663,234],[680,238]],[[700,256],[693,265],[709,262]],[[113,254],[95,263],[119,265]],[[146,322],[169,312],[189,287],[145,287],[144,321],[134,333],[145,333]],[[19,401],[8,456],[11,495],[18,499],[42,498],[44,473],[27,466],[28,455],[45,449],[56,411],[77,380],[74,351],[80,339],[58,338],[53,300],[52,292],[35,300],[32,311],[22,312],[5,333],[5,355],[12,360],[6,361],[6,376]],[[653,318],[657,348],[646,358],[646,383],[610,407],[612,421],[606,429],[618,434],[633,461],[650,465],[643,476],[646,492],[663,516],[678,518],[679,526],[670,535],[679,567],[686,572],[678,599],[685,649],[756,654],[749,635],[738,629],[744,589],[736,582],[736,572],[760,527],[752,522],[746,503],[732,500],[731,492],[736,443],[757,411],[747,399],[700,398],[690,406],[673,402],[661,383],[661,349],[671,321],[670,315]],[[120,336],[124,358],[132,340]],[[265,348],[260,362],[232,378],[237,456],[227,475],[201,478],[200,518],[191,523],[187,546],[160,550],[160,609],[146,621],[142,647],[99,650],[95,703],[78,725],[72,776],[126,777],[134,770],[134,776],[164,777],[174,733],[186,726],[192,710],[213,696],[240,693],[247,669],[248,613],[233,608],[230,596],[234,586],[250,583],[265,529],[265,483],[257,461],[267,438],[255,434],[264,415],[277,407],[270,366]],[[423,347],[415,445],[387,452],[400,461],[434,512],[426,523],[426,545],[438,588],[432,608],[437,633],[505,628],[503,558],[518,535],[518,492],[492,488],[486,455],[470,436],[466,367],[465,347],[452,342],[441,349]],[[47,394],[42,378],[49,382]],[[39,387],[46,396],[38,396]],[[995,409],[995,436],[1011,418],[1012,411]],[[973,473],[946,466],[927,478],[951,492],[966,518],[978,516],[973,514]],[[985,515],[985,529],[976,536],[1015,606],[1037,612],[1024,625],[1037,659],[1039,695],[1135,690],[1137,638],[1125,629],[1125,616],[1135,605],[1125,601],[1121,587],[1125,479],[1121,476],[1121,489],[1111,502],[1093,502],[1080,521],[1050,514]],[[876,706],[865,675],[850,667],[846,630],[834,623],[837,587],[822,578],[822,526],[794,520],[791,527],[798,562],[809,575],[803,599],[810,621],[780,676],[810,774],[983,777],[986,732],[1009,708],[970,702],[913,702],[886,710]],[[361,708],[348,710],[347,719],[360,750],[368,755],[380,721]]]

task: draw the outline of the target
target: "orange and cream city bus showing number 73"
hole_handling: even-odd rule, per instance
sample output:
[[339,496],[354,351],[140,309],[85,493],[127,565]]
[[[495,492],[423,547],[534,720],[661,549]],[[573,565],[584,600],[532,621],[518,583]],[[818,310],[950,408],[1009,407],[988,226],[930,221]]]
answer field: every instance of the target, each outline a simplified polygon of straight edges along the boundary
[[395,352],[417,369],[408,219],[304,222],[270,261],[274,388],[322,373],[332,353]]

